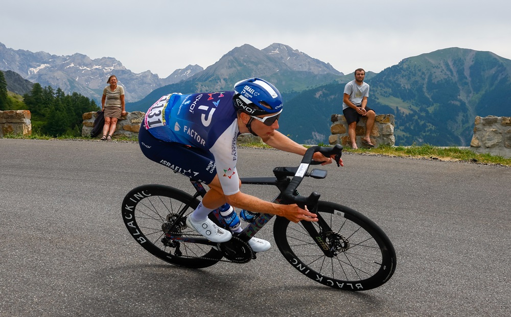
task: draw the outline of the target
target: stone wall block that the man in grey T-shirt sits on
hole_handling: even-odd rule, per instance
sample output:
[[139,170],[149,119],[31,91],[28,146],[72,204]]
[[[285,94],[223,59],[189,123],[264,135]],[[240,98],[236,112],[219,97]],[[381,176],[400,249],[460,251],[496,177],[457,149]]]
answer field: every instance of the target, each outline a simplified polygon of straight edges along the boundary
[[[330,144],[341,144],[343,147],[350,144],[350,137],[348,136],[348,125],[346,119],[342,114],[332,114],[330,117],[332,126],[330,132],[332,135],[328,138]],[[364,148],[361,140],[365,136],[365,123],[366,117],[362,117],[357,123],[356,141],[357,147]],[[375,148],[378,148],[380,144],[394,145],[396,139],[394,138],[394,116],[392,114],[378,114],[376,115],[375,125],[373,131],[370,134],[371,143],[375,144]]]

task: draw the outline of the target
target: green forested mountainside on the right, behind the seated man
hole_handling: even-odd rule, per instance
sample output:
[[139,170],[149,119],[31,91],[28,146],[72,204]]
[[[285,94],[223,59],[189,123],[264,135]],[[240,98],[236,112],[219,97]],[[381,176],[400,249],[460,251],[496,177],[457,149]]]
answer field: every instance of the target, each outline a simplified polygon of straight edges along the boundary
[[[327,142],[330,116],[342,113],[346,75],[285,103],[281,131],[298,142]],[[396,116],[397,145],[468,146],[475,116],[511,116],[511,60],[448,48],[410,57],[366,78],[368,106]]]

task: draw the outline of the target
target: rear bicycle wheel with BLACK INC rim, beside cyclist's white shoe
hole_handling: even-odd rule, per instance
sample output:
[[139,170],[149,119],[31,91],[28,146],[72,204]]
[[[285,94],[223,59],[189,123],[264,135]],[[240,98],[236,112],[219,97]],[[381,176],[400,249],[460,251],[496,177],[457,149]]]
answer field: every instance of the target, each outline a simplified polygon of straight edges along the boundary
[[142,185],[124,198],[123,221],[131,236],[152,255],[175,265],[199,269],[217,263],[222,254],[211,246],[195,243],[193,239],[201,236],[185,224],[185,217],[198,205],[199,200],[182,190]]

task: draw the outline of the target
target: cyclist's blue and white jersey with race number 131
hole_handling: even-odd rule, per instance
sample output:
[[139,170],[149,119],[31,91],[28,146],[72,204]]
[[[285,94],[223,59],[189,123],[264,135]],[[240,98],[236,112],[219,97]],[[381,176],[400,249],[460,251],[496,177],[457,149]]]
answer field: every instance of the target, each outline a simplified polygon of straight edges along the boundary
[[211,152],[226,195],[240,190],[236,141],[240,134],[234,91],[162,96],[149,108],[144,127],[155,138]]

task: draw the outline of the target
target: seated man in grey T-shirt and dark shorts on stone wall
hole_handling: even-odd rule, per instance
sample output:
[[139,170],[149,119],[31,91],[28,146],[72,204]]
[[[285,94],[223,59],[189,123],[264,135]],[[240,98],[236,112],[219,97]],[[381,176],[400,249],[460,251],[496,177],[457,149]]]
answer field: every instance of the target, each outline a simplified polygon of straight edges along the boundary
[[348,124],[348,136],[350,137],[351,147],[353,149],[358,149],[356,128],[362,116],[367,116],[367,121],[365,124],[365,136],[361,141],[367,147],[373,148],[375,146],[371,143],[371,138],[369,136],[375,125],[376,112],[366,106],[367,97],[369,96],[369,85],[364,83],[364,78],[365,70],[358,68],[355,70],[355,80],[352,80],[344,86],[342,113]]

